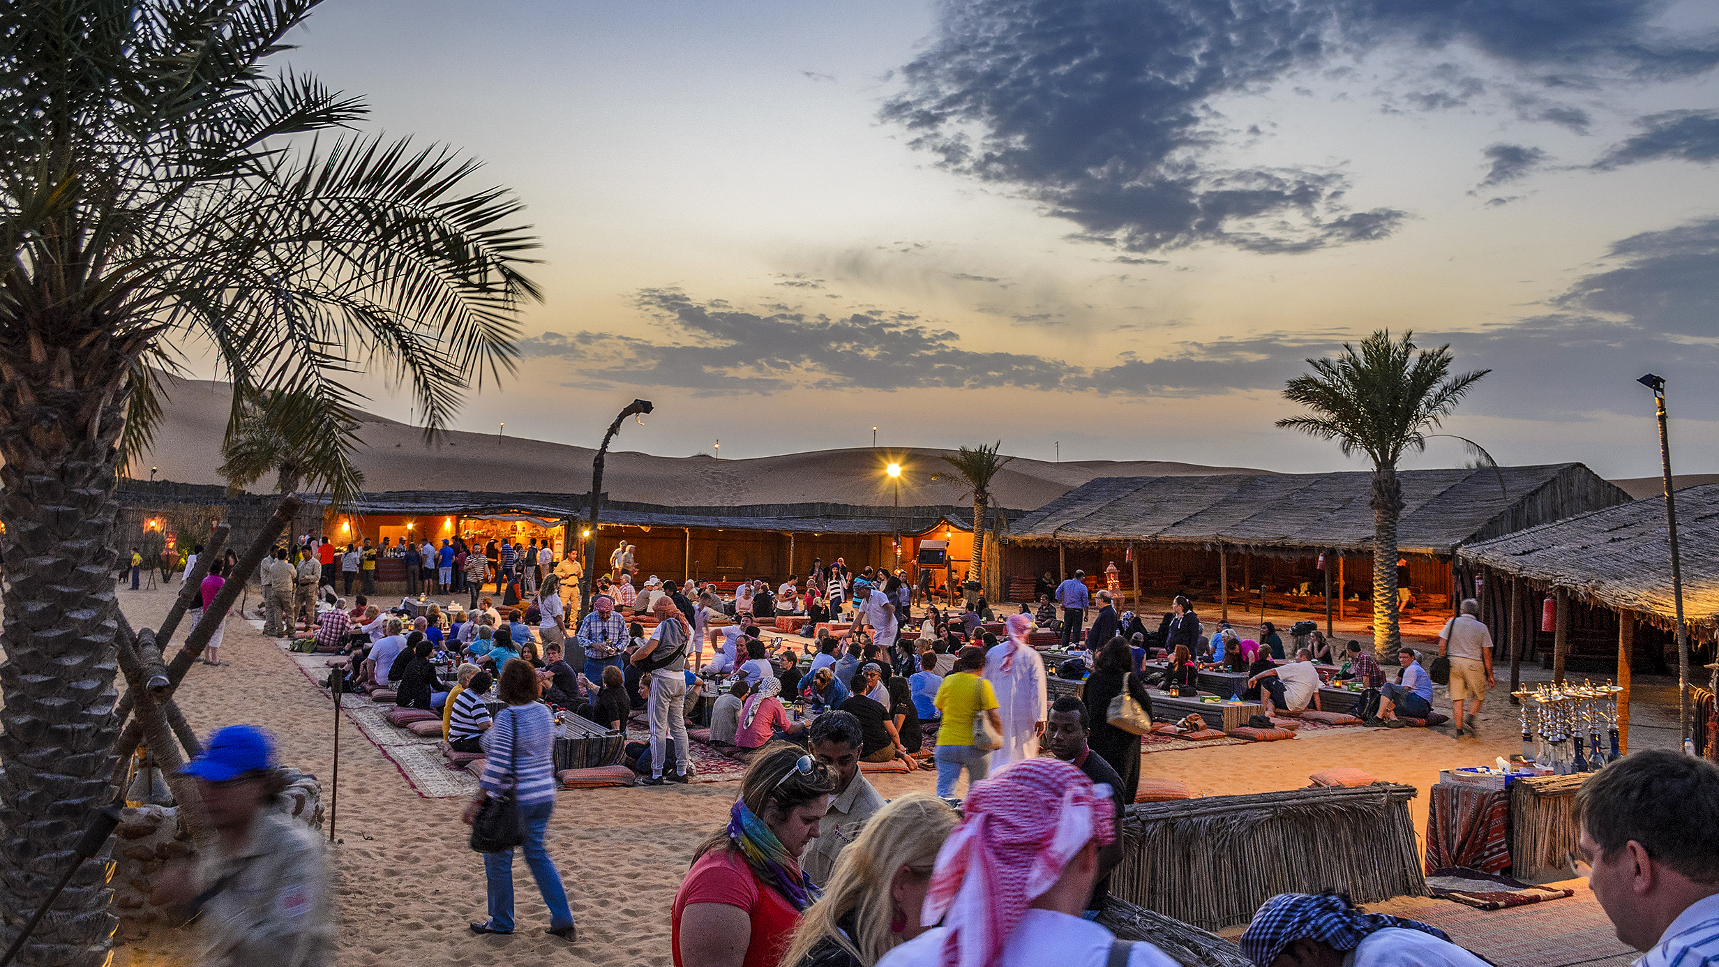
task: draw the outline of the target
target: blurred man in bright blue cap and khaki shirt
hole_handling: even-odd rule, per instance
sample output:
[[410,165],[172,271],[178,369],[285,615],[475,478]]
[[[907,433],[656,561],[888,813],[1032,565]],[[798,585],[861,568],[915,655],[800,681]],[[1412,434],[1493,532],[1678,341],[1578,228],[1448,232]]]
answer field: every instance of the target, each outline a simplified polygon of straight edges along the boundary
[[332,964],[321,836],[273,809],[285,778],[268,735],[256,726],[227,726],[182,774],[198,779],[215,843],[193,862],[162,869],[150,900],[201,912],[203,964]]

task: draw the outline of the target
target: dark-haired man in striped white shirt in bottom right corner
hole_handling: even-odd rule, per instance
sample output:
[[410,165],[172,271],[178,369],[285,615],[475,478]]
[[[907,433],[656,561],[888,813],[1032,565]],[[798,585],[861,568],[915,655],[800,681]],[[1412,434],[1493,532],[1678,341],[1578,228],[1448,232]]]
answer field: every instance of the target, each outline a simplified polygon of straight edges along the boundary
[[1576,793],[1588,886],[1635,967],[1719,964],[1719,767],[1667,750],[1631,752]]

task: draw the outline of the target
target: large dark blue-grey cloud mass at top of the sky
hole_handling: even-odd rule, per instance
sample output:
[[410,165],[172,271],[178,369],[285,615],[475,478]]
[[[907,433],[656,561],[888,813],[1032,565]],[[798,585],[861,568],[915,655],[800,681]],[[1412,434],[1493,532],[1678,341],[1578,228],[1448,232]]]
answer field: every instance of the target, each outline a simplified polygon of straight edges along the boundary
[[[1131,251],[1215,243],[1293,253],[1370,241],[1404,212],[1351,212],[1346,176],[1227,169],[1217,98],[1380,45],[1480,50],[1516,84],[1587,88],[1714,67],[1719,48],[1655,33],[1657,0],[970,0],[942,5],[882,117],[949,170],[1011,188]],[[1403,95],[1459,107],[1485,84],[1454,69]],[[1516,110],[1585,127],[1580,108],[1516,95]]]

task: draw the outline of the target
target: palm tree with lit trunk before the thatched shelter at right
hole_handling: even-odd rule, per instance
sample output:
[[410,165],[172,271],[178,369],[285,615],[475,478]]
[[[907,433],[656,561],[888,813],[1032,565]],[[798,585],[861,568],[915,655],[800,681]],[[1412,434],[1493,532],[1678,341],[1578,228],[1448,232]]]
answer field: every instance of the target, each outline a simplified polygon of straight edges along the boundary
[[[1289,380],[1284,397],[1310,413],[1277,422],[1322,440],[1337,440],[1343,456],[1361,451],[1373,461],[1373,650],[1379,661],[1396,661],[1403,644],[1396,583],[1396,530],[1403,513],[1398,461],[1404,451],[1425,451],[1428,437],[1444,435],[1430,430],[1439,428],[1470,387],[1492,372],[1453,377],[1451,348],[1416,354],[1413,337],[1404,332],[1392,341],[1382,329],[1361,341],[1360,351],[1344,342],[1336,358],[1308,360],[1313,372]],[[1463,442],[1492,463],[1478,444]]]

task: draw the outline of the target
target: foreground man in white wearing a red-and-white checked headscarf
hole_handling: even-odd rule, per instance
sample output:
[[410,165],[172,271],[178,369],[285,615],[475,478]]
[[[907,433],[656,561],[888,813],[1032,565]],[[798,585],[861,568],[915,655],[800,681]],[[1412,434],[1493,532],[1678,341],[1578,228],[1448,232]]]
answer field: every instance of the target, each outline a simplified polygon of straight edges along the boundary
[[877,967],[1176,964],[1150,943],[1117,941],[1081,917],[1098,879],[1098,847],[1117,831],[1109,790],[1080,769],[1061,759],[1016,762],[973,783],[961,814],[937,853],[923,907],[906,910],[913,929],[942,926],[896,946]]

